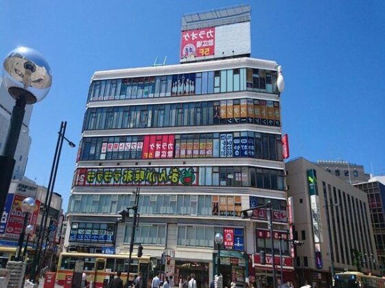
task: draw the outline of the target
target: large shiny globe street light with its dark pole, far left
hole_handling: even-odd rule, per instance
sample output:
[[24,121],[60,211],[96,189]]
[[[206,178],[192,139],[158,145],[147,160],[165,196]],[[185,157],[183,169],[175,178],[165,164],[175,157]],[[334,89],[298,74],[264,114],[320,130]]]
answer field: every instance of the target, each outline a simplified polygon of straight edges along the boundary
[[3,62],[3,83],[8,93],[16,100],[10,119],[10,128],[0,156],[0,211],[12,181],[14,153],[19,141],[25,105],[44,99],[51,88],[52,75],[48,63],[34,49],[18,47],[8,54]]

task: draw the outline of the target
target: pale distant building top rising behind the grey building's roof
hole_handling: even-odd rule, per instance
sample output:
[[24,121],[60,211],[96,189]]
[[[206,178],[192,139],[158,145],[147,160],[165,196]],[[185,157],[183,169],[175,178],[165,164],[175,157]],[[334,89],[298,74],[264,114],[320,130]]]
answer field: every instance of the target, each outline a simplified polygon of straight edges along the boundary
[[315,164],[350,184],[366,182],[371,178],[370,174],[365,173],[363,165],[348,161],[318,160]]

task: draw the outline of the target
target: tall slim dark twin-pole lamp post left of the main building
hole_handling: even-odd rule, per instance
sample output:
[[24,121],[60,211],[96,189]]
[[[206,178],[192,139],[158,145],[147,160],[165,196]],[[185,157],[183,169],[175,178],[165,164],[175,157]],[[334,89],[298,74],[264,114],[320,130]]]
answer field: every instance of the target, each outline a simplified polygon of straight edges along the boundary
[[60,154],[62,152],[63,141],[67,141],[70,147],[75,147],[75,144],[69,141],[65,137],[65,130],[67,128],[67,121],[62,121],[60,124],[60,130],[58,132],[58,142],[56,143],[56,149],[54,154],[54,161],[52,162],[51,174],[49,176],[49,182],[47,187],[47,193],[45,195],[45,202],[43,206],[43,216],[40,221],[40,229],[38,232],[38,237],[36,239],[36,250],[34,255],[34,262],[32,263],[32,270],[30,274],[30,281],[35,282],[36,275],[38,274],[38,269],[40,266],[40,254],[43,248],[43,238],[45,232],[45,226],[47,226],[47,219],[49,216],[49,208],[51,206],[52,193],[54,193],[56,173],[58,172],[58,165],[60,160]]

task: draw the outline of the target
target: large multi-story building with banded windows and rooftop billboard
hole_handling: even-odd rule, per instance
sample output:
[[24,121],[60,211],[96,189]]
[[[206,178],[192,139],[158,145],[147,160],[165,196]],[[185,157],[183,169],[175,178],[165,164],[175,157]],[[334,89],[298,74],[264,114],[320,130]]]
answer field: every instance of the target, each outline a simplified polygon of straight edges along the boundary
[[[67,250],[128,252],[132,224],[118,222],[118,211],[134,205],[132,191],[140,187],[135,251],[141,243],[144,254],[160,259],[167,250],[168,274],[192,272],[204,287],[216,274],[220,232],[224,285],[272,286],[266,209],[251,220],[241,211],[272,202],[279,266],[288,217],[278,64],[245,57],[248,6],[215,12],[200,13],[203,22],[184,16],[183,64],[94,73],[67,211]],[[267,265],[260,264],[260,250]],[[293,280],[293,269],[284,241],[285,280]]]

